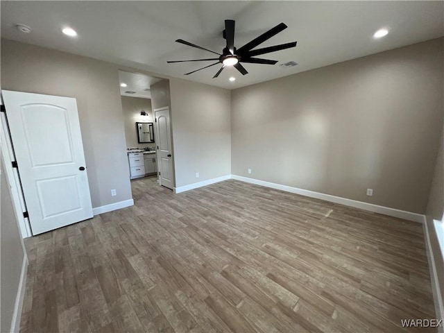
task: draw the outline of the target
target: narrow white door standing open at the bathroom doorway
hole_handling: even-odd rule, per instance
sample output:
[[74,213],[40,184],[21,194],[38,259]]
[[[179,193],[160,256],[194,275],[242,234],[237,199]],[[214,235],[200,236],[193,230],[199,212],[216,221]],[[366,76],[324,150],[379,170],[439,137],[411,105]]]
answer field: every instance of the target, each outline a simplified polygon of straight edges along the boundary
[[169,108],[154,110],[157,132],[157,165],[160,185],[173,189],[173,153],[171,149],[171,128]]

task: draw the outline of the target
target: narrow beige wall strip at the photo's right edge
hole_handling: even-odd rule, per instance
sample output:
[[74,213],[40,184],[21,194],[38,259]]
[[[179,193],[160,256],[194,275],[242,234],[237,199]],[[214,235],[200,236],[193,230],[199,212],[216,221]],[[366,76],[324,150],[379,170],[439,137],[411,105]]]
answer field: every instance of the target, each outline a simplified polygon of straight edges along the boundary
[[[436,157],[435,172],[432,179],[432,187],[427,205],[427,225],[429,231],[430,245],[434,255],[436,271],[438,272],[438,282],[441,287],[441,299],[444,300],[444,255],[439,247],[438,237],[434,228],[433,220],[441,221],[444,213],[444,129],[441,136],[441,145]],[[441,273],[440,273],[441,272]]]

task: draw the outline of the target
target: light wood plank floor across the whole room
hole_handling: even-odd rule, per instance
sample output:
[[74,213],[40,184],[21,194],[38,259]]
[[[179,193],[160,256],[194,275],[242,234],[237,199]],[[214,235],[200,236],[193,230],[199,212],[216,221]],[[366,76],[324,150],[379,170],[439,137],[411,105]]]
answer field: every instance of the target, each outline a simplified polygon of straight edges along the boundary
[[[227,180],[26,241],[21,332],[424,332],[419,223]],[[427,329],[427,332],[436,332]]]

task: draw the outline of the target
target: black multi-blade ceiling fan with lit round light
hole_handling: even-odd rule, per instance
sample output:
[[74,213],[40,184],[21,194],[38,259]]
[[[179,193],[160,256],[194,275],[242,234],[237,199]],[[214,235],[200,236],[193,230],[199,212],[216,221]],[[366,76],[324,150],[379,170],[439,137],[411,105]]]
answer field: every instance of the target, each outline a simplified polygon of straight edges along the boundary
[[263,49],[255,49],[256,46],[259,44],[262,44],[266,40],[270,39],[274,35],[277,35],[281,31],[287,28],[287,25],[280,23],[274,28],[271,28],[266,33],[263,33],[259,37],[256,37],[254,40],[248,42],[244,46],[242,46],[240,49],[236,49],[234,47],[234,20],[232,19],[225,19],[225,30],[223,31],[223,38],[227,40],[227,46],[222,50],[222,54],[211,51],[209,49],[205,49],[205,47],[198,46],[196,44],[192,44],[190,42],[187,42],[186,40],[176,40],[176,42],[180,44],[185,44],[188,46],[196,47],[196,49],[201,49],[205,51],[209,51],[211,53],[217,54],[219,58],[210,58],[210,59],[196,59],[196,60],[173,60],[173,61],[167,61],[168,63],[171,62],[190,62],[190,61],[211,61],[211,60],[218,60],[217,62],[214,62],[212,65],[208,65],[205,67],[202,67],[200,69],[196,69],[195,71],[190,71],[189,73],[186,73],[185,75],[192,74],[196,71],[200,71],[201,69],[205,69],[208,67],[212,67],[214,65],[218,65],[219,63],[222,64],[221,69],[217,71],[217,73],[213,76],[213,78],[217,78],[219,74],[221,74],[221,71],[226,66],[233,66],[235,69],[241,72],[242,75],[248,74],[248,71],[244,68],[244,66],[241,65],[241,62],[251,63],[251,64],[265,64],[265,65],[275,65],[277,62],[276,60],[268,60],[268,59],[262,59],[262,58],[254,58],[255,56],[259,56],[261,54],[265,53],[271,53],[275,51],[280,51],[284,49],[289,49],[291,47],[295,47],[297,42],[291,42],[287,44],[280,44],[275,46],[268,46],[264,47]]

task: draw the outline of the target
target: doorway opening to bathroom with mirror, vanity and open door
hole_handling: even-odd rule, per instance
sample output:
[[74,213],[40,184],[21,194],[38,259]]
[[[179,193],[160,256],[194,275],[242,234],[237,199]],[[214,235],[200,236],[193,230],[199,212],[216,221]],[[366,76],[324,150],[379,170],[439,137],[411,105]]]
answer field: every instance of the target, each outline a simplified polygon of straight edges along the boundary
[[154,176],[174,189],[169,80],[119,71],[119,85],[131,180]]

